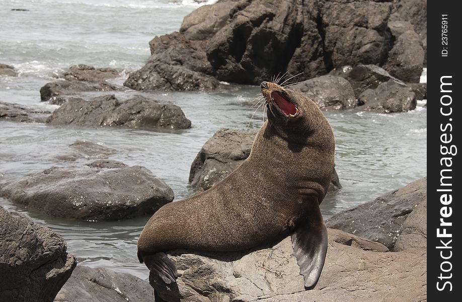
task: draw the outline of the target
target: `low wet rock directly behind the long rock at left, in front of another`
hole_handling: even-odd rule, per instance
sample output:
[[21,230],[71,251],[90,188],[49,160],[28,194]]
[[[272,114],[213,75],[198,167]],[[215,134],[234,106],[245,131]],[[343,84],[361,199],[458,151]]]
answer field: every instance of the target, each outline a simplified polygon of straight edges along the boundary
[[57,81],[48,83],[40,89],[42,102],[61,105],[75,93],[89,91],[117,91],[119,87],[109,83],[86,83],[82,81]]

